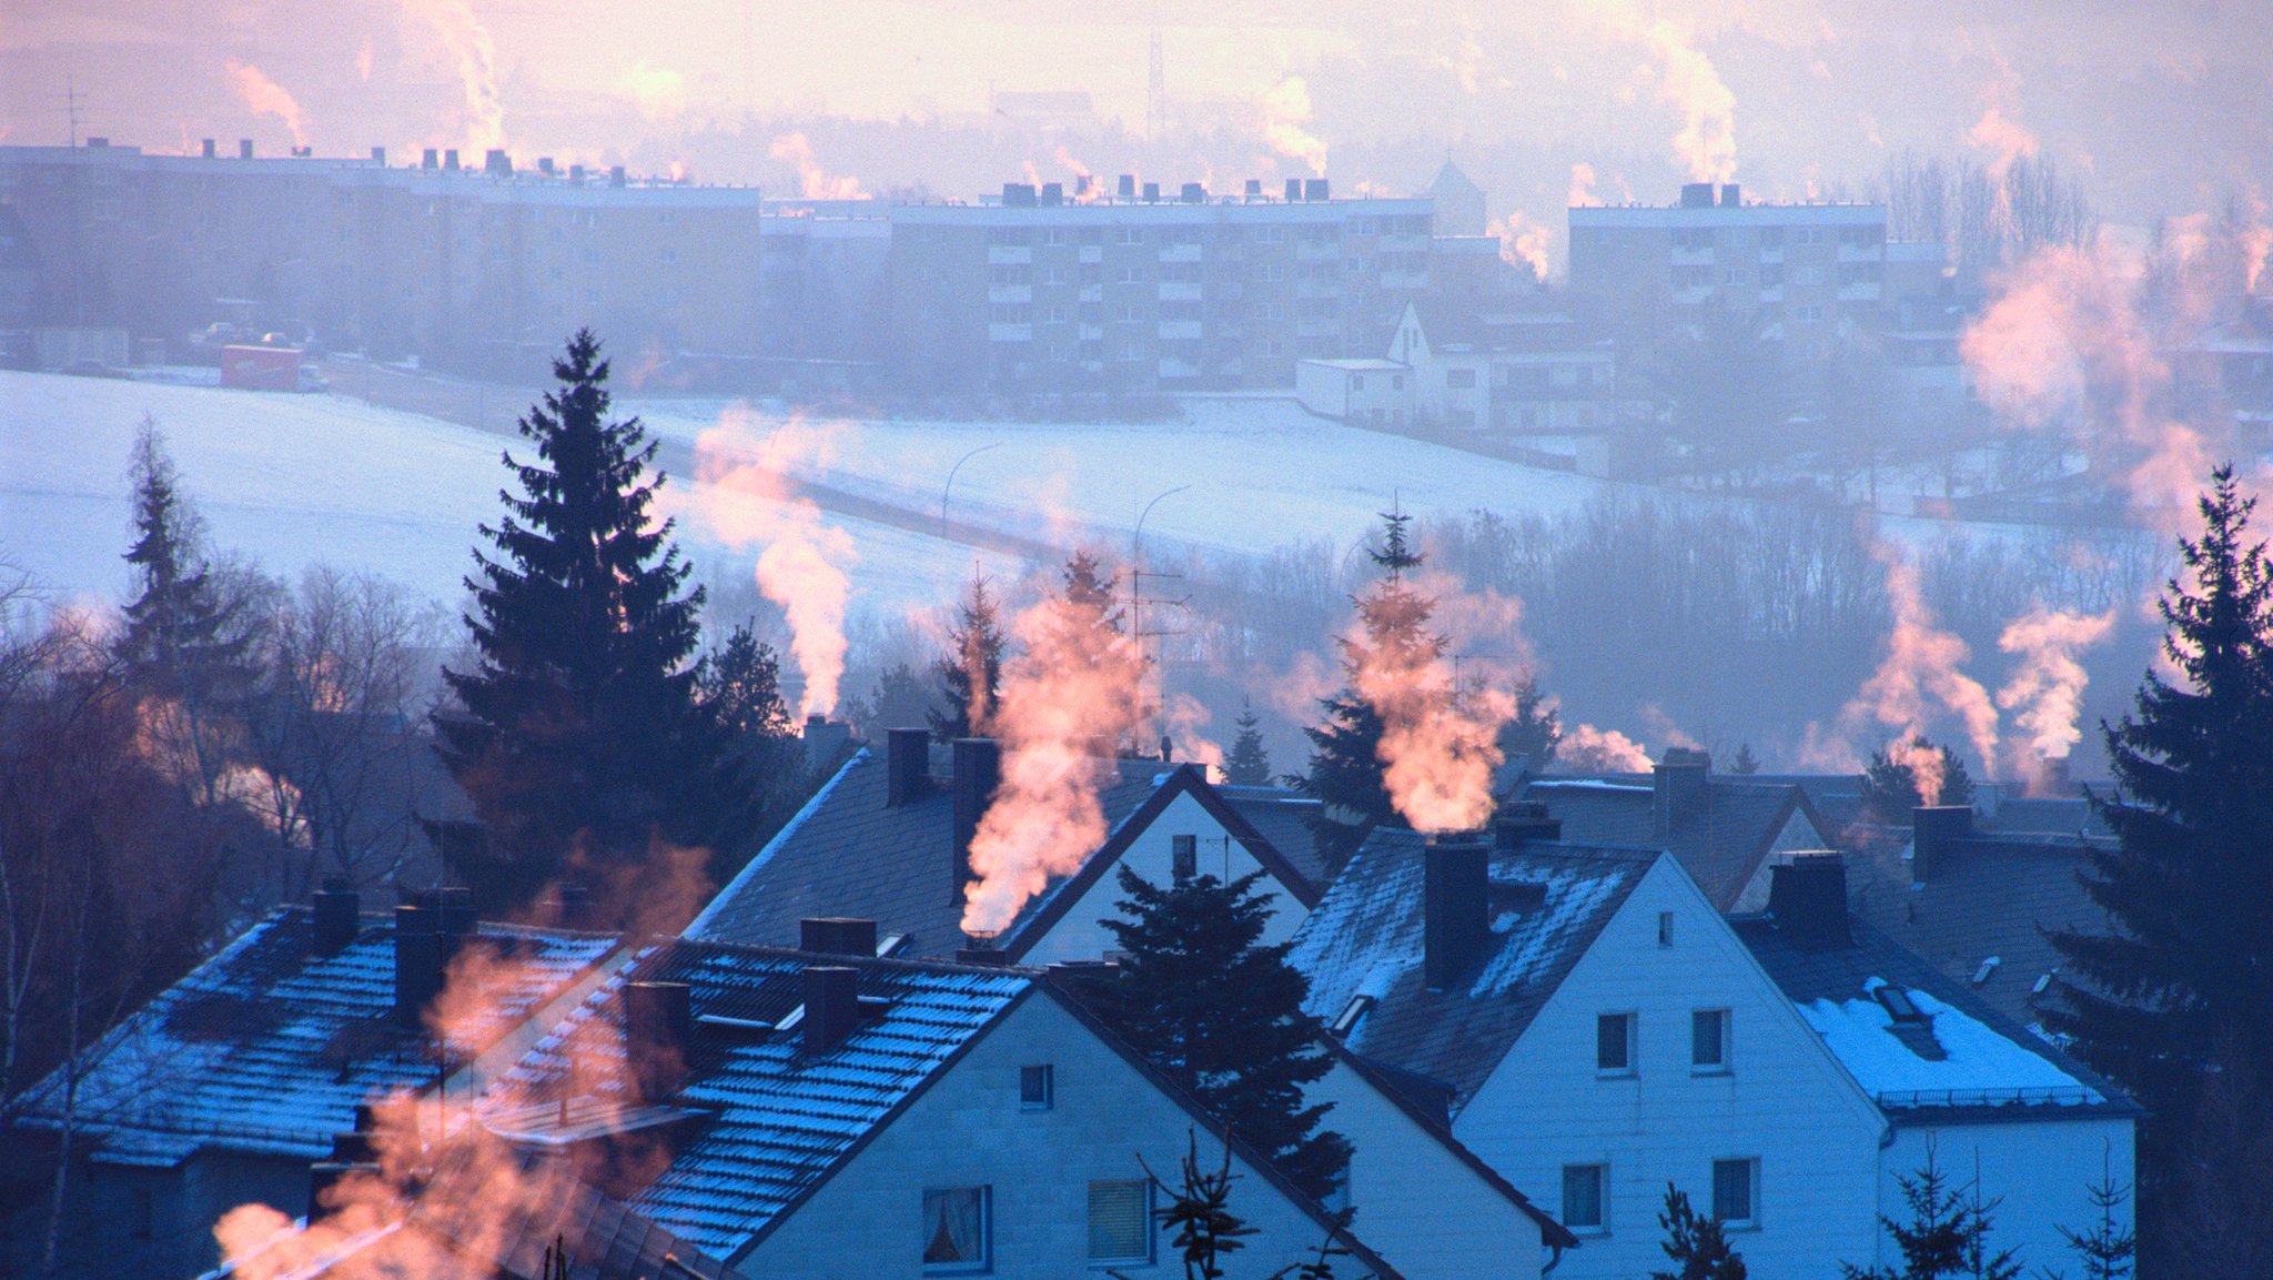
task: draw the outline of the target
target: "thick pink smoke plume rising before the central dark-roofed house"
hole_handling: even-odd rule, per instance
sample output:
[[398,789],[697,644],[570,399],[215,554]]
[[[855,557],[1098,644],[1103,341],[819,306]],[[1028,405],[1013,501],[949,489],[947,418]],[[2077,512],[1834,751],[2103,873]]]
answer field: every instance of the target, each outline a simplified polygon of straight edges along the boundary
[[1052,875],[1071,875],[1105,843],[1098,787],[1143,712],[1143,657],[1102,612],[1066,598],[1023,609],[1023,646],[1002,664],[989,728],[1002,743],[1002,782],[971,839],[973,884],[964,932],[993,937]]

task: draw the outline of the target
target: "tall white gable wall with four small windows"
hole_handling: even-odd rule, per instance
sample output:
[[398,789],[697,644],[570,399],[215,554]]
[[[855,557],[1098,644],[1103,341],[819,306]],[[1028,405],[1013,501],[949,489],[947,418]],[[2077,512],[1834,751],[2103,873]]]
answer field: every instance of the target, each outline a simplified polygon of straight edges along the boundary
[[[1673,946],[1657,914],[1673,912]],[[1689,1014],[1730,1009],[1730,1071],[1698,1075]],[[1596,1073],[1596,1016],[1639,1014],[1632,1078]],[[1714,1160],[1759,1160],[1759,1228],[1732,1232],[1755,1275],[1821,1275],[1875,1241],[1877,1107],[1823,1050],[1671,857],[1659,857],[1532,1021],[1452,1134],[1539,1207],[1564,1216],[1566,1164],[1609,1164],[1605,1235],[1557,1280],[1632,1280],[1664,1266],[1666,1182],[1712,1212]]]

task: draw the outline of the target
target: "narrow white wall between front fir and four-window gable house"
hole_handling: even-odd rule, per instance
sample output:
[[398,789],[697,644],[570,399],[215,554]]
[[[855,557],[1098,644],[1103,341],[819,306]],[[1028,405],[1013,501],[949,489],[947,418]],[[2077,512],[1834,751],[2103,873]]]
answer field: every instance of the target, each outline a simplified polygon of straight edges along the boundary
[[1334,1105],[1321,1128],[1357,1148],[1352,1225],[1407,1280],[1505,1280],[1546,1266],[1539,1223],[1346,1062],[1305,1100]]

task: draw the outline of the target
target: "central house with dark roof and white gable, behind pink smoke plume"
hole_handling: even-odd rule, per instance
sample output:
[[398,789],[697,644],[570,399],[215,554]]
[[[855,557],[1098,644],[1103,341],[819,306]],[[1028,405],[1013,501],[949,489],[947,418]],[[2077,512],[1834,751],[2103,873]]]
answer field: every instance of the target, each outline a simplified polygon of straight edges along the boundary
[[[686,925],[686,937],[796,946],[802,919],[859,916],[877,921],[893,955],[955,957],[973,946],[961,932],[961,889],[998,778],[993,739],[934,750],[925,730],[889,730],[884,753],[855,753]],[[1316,853],[1264,839],[1198,766],[1111,762],[1098,803],[1105,843],[991,939],[1007,959],[1105,957],[1114,939],[1102,921],[1118,916],[1118,866],[1155,884],[1180,864],[1223,878],[1264,871],[1277,900],[1266,941],[1291,937],[1318,900]]]

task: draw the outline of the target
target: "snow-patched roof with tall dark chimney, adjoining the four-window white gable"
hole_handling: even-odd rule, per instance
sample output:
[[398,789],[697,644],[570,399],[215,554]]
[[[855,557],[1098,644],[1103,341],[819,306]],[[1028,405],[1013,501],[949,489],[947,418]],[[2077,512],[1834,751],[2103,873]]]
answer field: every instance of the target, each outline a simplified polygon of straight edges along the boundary
[[[1491,855],[1491,944],[1475,978],[1430,991],[1423,973],[1423,837],[1377,828],[1296,932],[1291,964],[1309,978],[1307,1009],[1332,1025],[1366,996],[1343,1044],[1441,1089],[1457,1114],[1516,1046],[1577,959],[1641,884],[1655,850],[1525,843]],[[1516,884],[1546,889],[1534,905]],[[1414,1094],[1414,1089],[1407,1089]],[[1430,1100],[1434,1103],[1434,1098]]]

